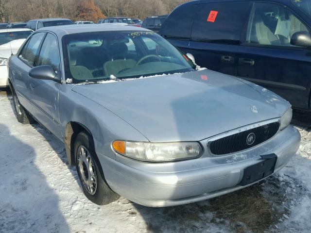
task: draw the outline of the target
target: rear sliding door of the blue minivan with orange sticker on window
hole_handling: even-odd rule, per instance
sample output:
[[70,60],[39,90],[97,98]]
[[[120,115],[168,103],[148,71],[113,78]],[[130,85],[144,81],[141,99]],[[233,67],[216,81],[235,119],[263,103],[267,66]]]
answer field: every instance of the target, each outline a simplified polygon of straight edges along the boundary
[[189,49],[196,63],[225,74],[236,74],[236,52],[251,2],[217,2],[194,5]]

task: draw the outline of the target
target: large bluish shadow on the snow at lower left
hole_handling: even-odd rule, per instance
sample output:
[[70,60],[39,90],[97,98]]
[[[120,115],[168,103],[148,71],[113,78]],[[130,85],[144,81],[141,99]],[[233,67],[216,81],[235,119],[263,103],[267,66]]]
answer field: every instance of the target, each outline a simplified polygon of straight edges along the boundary
[[0,233],[69,233],[59,197],[36,166],[31,139],[16,134],[0,123]]

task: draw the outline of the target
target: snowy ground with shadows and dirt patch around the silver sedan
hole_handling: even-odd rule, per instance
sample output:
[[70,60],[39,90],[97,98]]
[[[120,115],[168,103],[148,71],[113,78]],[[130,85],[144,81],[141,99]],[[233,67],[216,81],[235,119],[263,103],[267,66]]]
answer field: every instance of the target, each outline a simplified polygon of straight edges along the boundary
[[149,208],[121,198],[88,201],[64,146],[38,124],[17,122],[0,92],[0,233],[213,232],[310,233],[311,129],[278,174],[199,203]]

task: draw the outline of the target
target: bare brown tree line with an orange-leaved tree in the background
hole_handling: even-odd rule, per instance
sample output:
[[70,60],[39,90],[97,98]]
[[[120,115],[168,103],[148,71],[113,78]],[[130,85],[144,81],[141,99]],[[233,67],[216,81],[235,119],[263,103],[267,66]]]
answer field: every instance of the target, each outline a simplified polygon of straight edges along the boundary
[[126,16],[144,19],[169,14],[188,0],[0,0],[0,21],[18,22],[35,18],[64,17],[92,20]]

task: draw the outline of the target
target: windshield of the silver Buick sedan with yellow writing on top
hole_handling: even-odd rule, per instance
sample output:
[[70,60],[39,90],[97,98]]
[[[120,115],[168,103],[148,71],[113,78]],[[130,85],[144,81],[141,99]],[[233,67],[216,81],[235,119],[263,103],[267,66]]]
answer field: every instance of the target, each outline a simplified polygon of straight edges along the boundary
[[195,70],[188,57],[153,32],[96,32],[63,37],[66,79],[73,83]]

